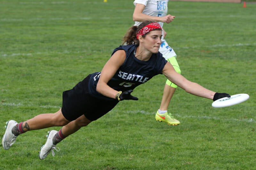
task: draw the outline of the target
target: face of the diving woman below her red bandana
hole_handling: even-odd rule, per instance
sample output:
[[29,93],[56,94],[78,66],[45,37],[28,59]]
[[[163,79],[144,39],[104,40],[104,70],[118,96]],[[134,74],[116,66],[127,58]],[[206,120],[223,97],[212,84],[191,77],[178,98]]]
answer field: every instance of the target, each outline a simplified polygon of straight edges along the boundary
[[162,37],[162,30],[153,30],[143,38],[144,47],[151,53],[158,53]]

